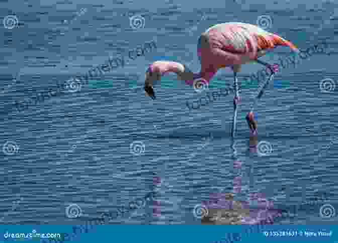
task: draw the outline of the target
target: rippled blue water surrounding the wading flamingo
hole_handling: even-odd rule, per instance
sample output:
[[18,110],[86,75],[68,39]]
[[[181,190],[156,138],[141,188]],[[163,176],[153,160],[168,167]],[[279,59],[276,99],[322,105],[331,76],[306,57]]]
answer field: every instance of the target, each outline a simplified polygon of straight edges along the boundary
[[[13,29],[2,27],[0,35],[0,143],[15,143],[14,151],[0,153],[3,223],[83,223],[155,190],[154,177],[163,181],[157,202],[115,223],[200,224],[194,206],[209,200],[211,193],[232,192],[233,178],[239,175],[240,199],[263,192],[283,204],[289,189],[291,198],[301,203],[305,185],[306,200],[326,193],[338,213],[338,154],[336,143],[330,144],[338,136],[338,87],[332,86],[338,85],[337,8],[333,1],[2,1],[2,18],[16,15],[19,20]],[[144,28],[131,28],[134,15],[144,18]],[[257,24],[263,15],[272,19],[270,32],[299,48],[324,40],[330,50],[281,70],[259,102],[258,139],[271,146],[267,156],[249,152],[248,145],[245,115],[257,85],[242,88],[235,151],[230,138],[233,93],[189,110],[186,101],[198,100],[204,92],[178,82],[156,88],[157,99],[151,100],[142,89],[130,88],[130,82],[142,86],[155,57],[170,57],[197,72],[197,40],[203,31],[224,22]],[[151,40],[156,50],[128,59],[129,50]],[[289,49],[276,48],[262,60],[274,63],[288,55]],[[49,89],[56,92],[60,83],[117,56],[125,56],[126,64],[95,79],[108,86],[82,85],[77,92],[57,93],[22,111],[13,104]],[[240,83],[260,69],[258,64],[243,66]],[[166,78],[176,80],[173,74]],[[333,81],[322,85],[329,92],[319,89],[325,78]],[[228,87],[232,73],[220,70],[213,82]],[[131,144],[140,145],[139,155],[131,153]],[[233,170],[236,160],[242,162],[242,173]],[[80,216],[67,217],[71,204],[80,207]],[[336,222],[337,217],[324,219],[313,209],[275,224]]]

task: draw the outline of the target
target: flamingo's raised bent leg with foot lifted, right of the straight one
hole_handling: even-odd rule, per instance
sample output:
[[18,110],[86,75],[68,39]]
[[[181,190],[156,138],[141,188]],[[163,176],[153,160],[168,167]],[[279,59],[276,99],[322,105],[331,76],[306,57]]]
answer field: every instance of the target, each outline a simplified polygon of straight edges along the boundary
[[257,106],[258,101],[261,99],[262,95],[264,94],[264,91],[268,87],[268,84],[270,83],[270,81],[273,80],[276,72],[278,72],[278,66],[277,65],[271,65],[271,64],[263,62],[261,60],[256,60],[256,62],[266,66],[267,68],[269,68],[270,71],[271,71],[271,74],[270,74],[270,77],[268,79],[264,80],[262,82],[262,84],[258,87],[258,90],[257,90],[258,92],[257,92],[257,95],[255,96],[255,101],[253,102],[253,104],[251,106],[250,112],[248,112],[246,117],[245,117],[247,124],[249,126],[249,129],[253,132],[253,134],[257,133],[257,121],[255,121],[255,119],[253,117],[253,108],[255,108]]

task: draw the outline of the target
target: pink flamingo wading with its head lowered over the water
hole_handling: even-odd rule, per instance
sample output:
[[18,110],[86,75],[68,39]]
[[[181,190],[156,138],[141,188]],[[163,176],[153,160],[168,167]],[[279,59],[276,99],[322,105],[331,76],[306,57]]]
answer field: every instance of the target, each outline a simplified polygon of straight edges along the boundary
[[287,46],[293,52],[299,53],[298,48],[290,41],[283,39],[277,34],[267,32],[258,26],[228,22],[217,24],[201,34],[198,40],[197,53],[201,63],[201,71],[193,73],[185,64],[173,61],[155,61],[149,65],[145,72],[144,91],[146,96],[155,99],[153,90],[154,81],[161,79],[165,73],[174,72],[180,81],[190,86],[208,85],[210,79],[216,74],[218,69],[230,67],[234,75],[233,98],[233,119],[231,137],[234,139],[237,123],[237,108],[240,103],[237,73],[240,72],[243,64],[256,62],[267,67],[271,71],[270,77],[258,87],[258,94],[251,106],[250,111],[245,116],[250,132],[257,135],[257,121],[253,118],[253,108],[264,94],[268,83],[278,72],[278,65],[259,60],[273,48],[277,46]]

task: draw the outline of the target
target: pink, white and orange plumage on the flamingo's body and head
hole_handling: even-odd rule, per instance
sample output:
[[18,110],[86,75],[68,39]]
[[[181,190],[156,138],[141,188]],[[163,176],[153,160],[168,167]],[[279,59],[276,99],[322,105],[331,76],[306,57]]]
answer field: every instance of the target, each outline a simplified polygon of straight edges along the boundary
[[[215,25],[202,33],[199,39],[197,53],[201,61],[201,71],[194,74],[194,79],[203,78],[209,82],[218,69],[255,61],[260,51],[276,46],[288,46],[298,52],[297,47],[289,41],[255,25]],[[157,61],[151,64],[149,69],[163,75],[166,72],[182,72],[182,67],[184,66],[177,62]],[[189,85],[193,82],[194,80],[186,80]]]

